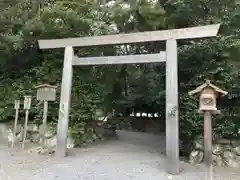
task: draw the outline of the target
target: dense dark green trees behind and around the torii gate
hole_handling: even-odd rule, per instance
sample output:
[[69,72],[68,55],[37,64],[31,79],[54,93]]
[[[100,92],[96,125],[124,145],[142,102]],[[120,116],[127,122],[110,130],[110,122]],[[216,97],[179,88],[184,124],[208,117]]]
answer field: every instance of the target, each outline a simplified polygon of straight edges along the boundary
[[[187,95],[188,90],[206,78],[230,92],[240,84],[240,7],[232,0],[101,1],[101,5],[100,1],[88,0],[11,0],[3,1],[0,6],[1,120],[13,116],[15,98],[26,93],[35,95],[35,85],[50,83],[60,87],[63,50],[38,50],[37,40],[41,38],[221,23],[216,38],[179,41],[180,132],[183,137],[194,138],[202,132],[197,104]],[[157,42],[76,48],[75,53],[80,56],[140,54],[164,48],[164,42]],[[50,106],[52,122],[56,122],[57,102]],[[34,102],[32,117],[35,120],[39,119],[39,106]],[[86,127],[99,109],[127,113],[132,108],[157,112],[164,117],[164,64],[74,68],[70,122],[74,132],[92,137],[92,129]],[[223,115],[216,117],[215,132],[237,136],[240,127],[238,101],[225,98],[220,108]]]

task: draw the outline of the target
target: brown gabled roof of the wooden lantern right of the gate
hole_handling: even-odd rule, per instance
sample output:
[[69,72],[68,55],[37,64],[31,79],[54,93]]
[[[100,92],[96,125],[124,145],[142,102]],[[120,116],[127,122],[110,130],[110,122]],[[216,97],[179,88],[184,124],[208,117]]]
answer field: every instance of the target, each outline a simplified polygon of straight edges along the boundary
[[212,88],[216,93],[225,96],[228,94],[227,91],[224,91],[222,89],[220,89],[219,87],[213,85],[210,80],[206,80],[206,82],[200,86],[198,86],[196,89],[190,91],[188,94],[189,95],[194,95],[194,94],[200,94],[205,88]]

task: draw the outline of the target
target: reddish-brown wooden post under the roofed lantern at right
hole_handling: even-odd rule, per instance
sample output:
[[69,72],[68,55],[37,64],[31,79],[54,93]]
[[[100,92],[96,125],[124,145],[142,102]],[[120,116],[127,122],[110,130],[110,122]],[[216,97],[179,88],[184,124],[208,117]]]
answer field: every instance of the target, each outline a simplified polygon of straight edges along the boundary
[[212,116],[210,111],[204,111],[204,164],[207,180],[212,180]]

